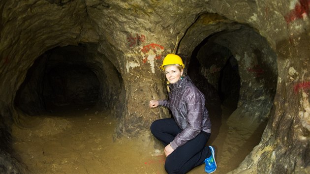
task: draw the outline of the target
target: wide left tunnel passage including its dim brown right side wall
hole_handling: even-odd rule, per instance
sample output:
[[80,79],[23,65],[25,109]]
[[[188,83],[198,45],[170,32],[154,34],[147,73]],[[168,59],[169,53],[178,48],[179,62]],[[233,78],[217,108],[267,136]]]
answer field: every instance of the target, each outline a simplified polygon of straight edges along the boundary
[[69,45],[42,54],[17,91],[15,106],[28,115],[94,107],[112,110],[113,102],[119,98],[116,93],[122,88],[122,78],[111,62],[93,53],[93,47]]

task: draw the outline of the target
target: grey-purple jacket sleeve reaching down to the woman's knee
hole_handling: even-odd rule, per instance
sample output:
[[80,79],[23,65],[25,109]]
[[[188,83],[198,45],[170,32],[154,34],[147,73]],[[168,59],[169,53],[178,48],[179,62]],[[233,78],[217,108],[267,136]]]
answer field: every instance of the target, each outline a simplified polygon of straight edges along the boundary
[[195,138],[201,132],[201,123],[205,108],[205,98],[197,90],[191,90],[186,95],[187,125],[174,140],[170,143],[173,149],[186,144],[189,140]]

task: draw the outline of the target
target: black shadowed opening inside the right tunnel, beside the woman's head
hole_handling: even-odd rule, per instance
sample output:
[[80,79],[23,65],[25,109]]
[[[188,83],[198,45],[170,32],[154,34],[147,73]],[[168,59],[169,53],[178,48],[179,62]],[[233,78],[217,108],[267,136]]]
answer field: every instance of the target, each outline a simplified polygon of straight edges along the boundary
[[[229,107],[231,111],[237,109],[241,84],[236,58],[227,47],[212,42],[213,36],[205,38],[195,47],[187,74],[204,93],[205,105],[209,112],[220,116],[221,105]],[[208,54],[200,53],[198,56],[204,49],[208,50]],[[202,58],[198,60],[197,57]],[[212,62],[217,66],[211,65]],[[211,78],[209,76],[210,79],[204,75],[206,67],[210,67],[208,71],[212,76]]]

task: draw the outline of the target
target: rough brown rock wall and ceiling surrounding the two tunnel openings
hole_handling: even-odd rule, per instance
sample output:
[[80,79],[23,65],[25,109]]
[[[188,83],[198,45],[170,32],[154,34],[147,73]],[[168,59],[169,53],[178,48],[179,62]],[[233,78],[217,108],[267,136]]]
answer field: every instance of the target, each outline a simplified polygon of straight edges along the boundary
[[[266,38],[277,56],[278,81],[274,108],[262,140],[235,172],[306,173],[310,170],[309,3],[309,0],[0,1],[3,103],[0,136],[1,140],[6,137],[3,140],[7,142],[1,142],[0,149],[5,152],[1,160],[11,154],[10,125],[19,122],[20,114],[14,107],[16,91],[34,60],[44,52],[57,46],[95,43],[93,63],[108,59],[124,80],[124,86],[119,86],[124,89],[119,90],[125,95],[124,104],[112,106],[123,109],[117,133],[137,136],[141,130],[148,130],[154,119],[168,116],[167,110],[148,108],[150,99],[166,97],[164,76],[157,68],[163,56],[171,52],[182,54],[188,65],[191,51],[202,39],[238,27],[234,23],[239,23]],[[200,18],[210,13],[217,15],[207,20]],[[197,25],[215,24],[221,25],[200,29],[201,35],[188,37],[190,29]]]

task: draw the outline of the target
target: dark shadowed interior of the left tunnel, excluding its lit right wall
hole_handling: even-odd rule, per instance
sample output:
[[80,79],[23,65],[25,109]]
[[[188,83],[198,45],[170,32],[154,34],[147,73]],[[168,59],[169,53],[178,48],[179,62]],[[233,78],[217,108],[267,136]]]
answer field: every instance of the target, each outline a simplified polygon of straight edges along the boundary
[[28,115],[55,113],[64,109],[85,110],[98,101],[100,87],[87,67],[83,46],[57,47],[33,63],[17,91],[15,106]]

